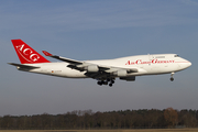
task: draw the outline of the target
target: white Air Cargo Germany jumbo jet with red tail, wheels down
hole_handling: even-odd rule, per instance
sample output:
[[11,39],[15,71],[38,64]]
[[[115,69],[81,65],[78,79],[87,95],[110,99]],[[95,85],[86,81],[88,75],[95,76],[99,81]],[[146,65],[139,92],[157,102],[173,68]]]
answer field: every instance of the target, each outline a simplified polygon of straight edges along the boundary
[[22,40],[11,40],[21,64],[9,63],[19,70],[37,73],[65,78],[94,78],[98,85],[114,84],[116,78],[134,81],[135,76],[170,74],[188,68],[191,63],[177,54],[148,54],[120,57],[100,61],[75,61],[53,55],[46,51],[43,53],[62,61],[51,63]]

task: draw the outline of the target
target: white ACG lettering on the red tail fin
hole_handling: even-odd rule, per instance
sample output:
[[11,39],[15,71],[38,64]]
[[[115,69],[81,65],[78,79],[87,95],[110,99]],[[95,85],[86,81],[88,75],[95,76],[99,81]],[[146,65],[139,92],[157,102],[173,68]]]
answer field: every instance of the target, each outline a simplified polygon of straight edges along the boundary
[[33,52],[33,50],[25,47],[25,44],[15,46],[20,55],[26,59],[28,62],[36,62],[38,61],[40,56]]

